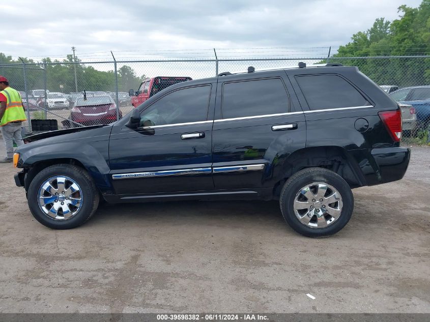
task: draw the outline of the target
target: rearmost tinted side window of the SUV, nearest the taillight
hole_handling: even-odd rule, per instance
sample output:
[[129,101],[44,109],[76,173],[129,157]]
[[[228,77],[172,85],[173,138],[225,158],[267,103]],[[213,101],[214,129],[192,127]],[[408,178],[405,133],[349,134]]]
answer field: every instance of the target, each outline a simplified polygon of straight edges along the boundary
[[308,75],[296,79],[311,110],[371,105],[340,76]]

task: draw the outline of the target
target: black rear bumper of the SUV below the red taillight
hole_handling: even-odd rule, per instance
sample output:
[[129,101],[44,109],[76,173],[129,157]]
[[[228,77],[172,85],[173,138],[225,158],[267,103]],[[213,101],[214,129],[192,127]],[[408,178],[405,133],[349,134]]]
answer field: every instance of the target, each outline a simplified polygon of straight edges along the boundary
[[380,148],[372,149],[370,154],[371,158],[362,167],[369,186],[402,179],[408,169],[411,150],[399,147]]

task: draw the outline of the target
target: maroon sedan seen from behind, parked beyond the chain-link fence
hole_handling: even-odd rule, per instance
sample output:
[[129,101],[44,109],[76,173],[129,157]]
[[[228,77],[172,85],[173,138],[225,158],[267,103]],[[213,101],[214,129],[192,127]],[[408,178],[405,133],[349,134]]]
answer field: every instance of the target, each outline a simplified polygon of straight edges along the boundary
[[[123,114],[120,110],[120,119]],[[77,98],[70,111],[70,120],[82,125],[109,124],[117,121],[117,105],[109,95]],[[63,125],[70,122],[63,121]]]

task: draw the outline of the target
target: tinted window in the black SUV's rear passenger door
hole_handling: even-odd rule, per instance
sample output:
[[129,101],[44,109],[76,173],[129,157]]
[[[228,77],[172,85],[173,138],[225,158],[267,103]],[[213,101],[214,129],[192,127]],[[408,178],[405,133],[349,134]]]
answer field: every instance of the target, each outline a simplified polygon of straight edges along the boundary
[[222,86],[222,118],[288,112],[288,94],[279,78],[224,83]]

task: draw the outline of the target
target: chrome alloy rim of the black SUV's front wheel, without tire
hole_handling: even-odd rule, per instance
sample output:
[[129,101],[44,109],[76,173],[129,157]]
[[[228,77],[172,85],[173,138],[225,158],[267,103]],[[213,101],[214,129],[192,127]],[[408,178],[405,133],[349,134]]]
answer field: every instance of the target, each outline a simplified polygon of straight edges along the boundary
[[64,175],[49,178],[40,187],[39,207],[50,218],[67,220],[82,207],[82,193],[72,178]]

